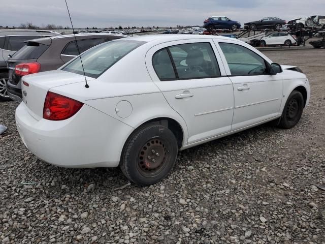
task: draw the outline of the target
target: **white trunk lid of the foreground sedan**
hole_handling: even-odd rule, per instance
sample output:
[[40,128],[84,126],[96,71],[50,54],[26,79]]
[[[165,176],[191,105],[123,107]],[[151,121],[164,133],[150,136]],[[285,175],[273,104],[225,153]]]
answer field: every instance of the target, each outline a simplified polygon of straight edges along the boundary
[[[93,79],[87,77],[87,81]],[[45,97],[50,88],[84,82],[85,77],[83,75],[62,70],[26,75],[22,77],[22,100],[30,110],[29,113],[37,120],[40,120],[43,117]]]

